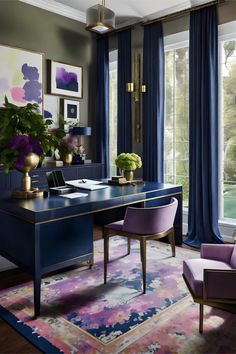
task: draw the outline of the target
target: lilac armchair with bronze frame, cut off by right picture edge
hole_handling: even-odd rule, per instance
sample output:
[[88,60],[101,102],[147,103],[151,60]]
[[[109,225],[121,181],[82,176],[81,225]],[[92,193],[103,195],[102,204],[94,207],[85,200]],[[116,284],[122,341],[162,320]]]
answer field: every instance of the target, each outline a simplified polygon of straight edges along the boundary
[[183,277],[193,300],[200,304],[202,333],[204,304],[221,308],[236,304],[236,245],[202,244],[201,258],[183,262]]

